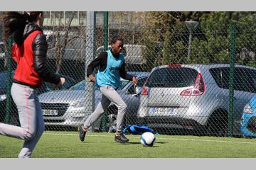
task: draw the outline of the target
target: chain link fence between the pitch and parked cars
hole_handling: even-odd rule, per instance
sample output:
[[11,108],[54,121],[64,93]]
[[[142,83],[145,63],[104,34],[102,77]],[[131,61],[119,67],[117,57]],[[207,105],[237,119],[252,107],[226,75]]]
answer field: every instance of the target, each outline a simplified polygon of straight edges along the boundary
[[[47,67],[67,80],[61,89],[53,89],[48,83],[38,89],[44,120],[47,128],[70,130],[82,124],[100,101],[97,86],[85,81],[85,69],[104,51],[104,28],[54,26],[44,28],[44,33],[48,41]],[[88,39],[87,35],[95,37]],[[256,93],[255,23],[112,25],[108,45],[114,35],[124,38],[122,53],[127,72],[138,80],[135,88],[131,81],[122,79],[118,89],[127,103],[124,126],[147,125],[171,135],[255,132],[253,114],[247,124],[242,119],[245,105]],[[89,41],[93,47],[88,48]],[[8,69],[2,68],[3,72]],[[14,63],[11,68],[15,68]],[[1,86],[6,80],[3,72]],[[8,108],[5,101],[2,93],[1,122],[18,125],[15,104],[11,102]],[[105,114],[106,130],[114,132],[117,107],[111,103]],[[92,130],[100,132],[103,126],[100,118]],[[241,131],[241,127],[247,131]]]

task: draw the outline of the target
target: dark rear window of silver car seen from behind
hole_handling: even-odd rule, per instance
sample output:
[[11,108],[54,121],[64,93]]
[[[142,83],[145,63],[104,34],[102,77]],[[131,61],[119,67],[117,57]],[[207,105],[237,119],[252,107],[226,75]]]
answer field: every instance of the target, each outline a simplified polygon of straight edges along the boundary
[[156,69],[151,73],[151,76],[146,82],[146,86],[166,88],[193,86],[197,74],[196,69],[186,67]]

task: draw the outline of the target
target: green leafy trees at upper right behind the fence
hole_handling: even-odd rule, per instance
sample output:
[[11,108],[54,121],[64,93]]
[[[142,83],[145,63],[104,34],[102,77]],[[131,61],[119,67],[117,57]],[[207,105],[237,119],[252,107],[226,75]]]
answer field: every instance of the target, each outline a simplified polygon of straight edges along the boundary
[[[159,30],[157,41],[164,42],[162,64],[229,63],[230,24],[236,23],[236,62],[255,65],[255,12],[148,12],[147,16],[151,29]],[[193,31],[191,57],[187,60],[189,32],[184,21],[189,20],[200,25]],[[147,36],[153,37],[154,33]],[[245,48],[248,52],[241,55]]]

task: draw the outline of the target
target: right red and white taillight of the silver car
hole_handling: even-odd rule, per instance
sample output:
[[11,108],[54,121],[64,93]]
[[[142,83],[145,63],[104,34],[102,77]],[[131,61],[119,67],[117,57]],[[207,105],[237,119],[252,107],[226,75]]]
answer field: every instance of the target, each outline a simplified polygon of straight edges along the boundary
[[198,73],[193,88],[181,91],[181,96],[200,96],[204,93],[204,91],[205,84],[203,81],[203,76],[201,73]]

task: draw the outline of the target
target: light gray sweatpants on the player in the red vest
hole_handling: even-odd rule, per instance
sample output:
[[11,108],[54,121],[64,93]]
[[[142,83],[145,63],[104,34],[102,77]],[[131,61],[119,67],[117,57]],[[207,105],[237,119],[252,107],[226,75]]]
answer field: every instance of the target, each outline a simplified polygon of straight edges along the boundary
[[0,123],[0,134],[25,140],[18,158],[31,157],[45,129],[41,104],[36,91],[21,84],[13,83],[11,96],[18,108],[21,127]]

